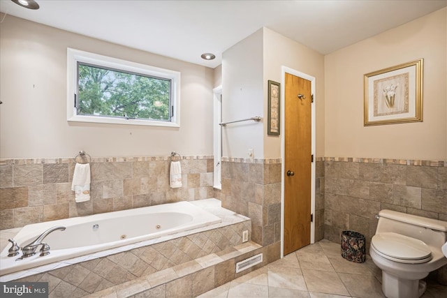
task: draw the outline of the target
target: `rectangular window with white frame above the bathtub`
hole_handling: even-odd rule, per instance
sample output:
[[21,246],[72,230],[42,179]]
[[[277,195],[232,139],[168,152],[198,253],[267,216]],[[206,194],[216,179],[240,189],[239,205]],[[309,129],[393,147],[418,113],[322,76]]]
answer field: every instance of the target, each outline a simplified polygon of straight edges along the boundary
[[68,48],[68,121],[179,126],[180,73]]

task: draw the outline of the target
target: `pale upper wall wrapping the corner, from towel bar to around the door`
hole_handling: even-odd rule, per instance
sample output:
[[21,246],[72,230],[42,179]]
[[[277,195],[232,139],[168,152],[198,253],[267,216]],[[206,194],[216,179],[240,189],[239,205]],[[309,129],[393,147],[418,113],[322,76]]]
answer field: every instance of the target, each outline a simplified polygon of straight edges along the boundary
[[254,116],[263,124],[244,122],[223,130],[223,156],[281,157],[281,136],[267,134],[268,80],[281,82],[281,66],[316,77],[317,155],[324,155],[324,57],[318,52],[261,28],[223,53],[223,120]]

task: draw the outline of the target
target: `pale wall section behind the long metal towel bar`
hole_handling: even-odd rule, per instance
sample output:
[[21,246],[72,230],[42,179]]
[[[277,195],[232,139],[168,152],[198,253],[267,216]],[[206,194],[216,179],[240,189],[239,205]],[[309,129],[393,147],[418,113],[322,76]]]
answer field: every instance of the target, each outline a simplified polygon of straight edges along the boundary
[[[263,29],[222,54],[222,120],[237,121],[263,114]],[[263,158],[263,124],[245,121],[222,131],[223,156]]]

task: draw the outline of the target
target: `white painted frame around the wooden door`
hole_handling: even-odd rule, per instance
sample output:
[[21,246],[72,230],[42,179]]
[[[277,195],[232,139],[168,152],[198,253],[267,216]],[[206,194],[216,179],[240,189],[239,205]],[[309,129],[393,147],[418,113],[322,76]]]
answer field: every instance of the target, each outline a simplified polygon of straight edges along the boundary
[[[312,117],[312,154],[314,154],[314,162],[311,165],[311,213],[314,214],[314,221],[310,223],[310,243],[315,242],[315,165],[316,165],[316,134],[315,134],[315,103],[316,103],[316,90],[315,90],[315,77],[307,75],[306,73],[301,73],[293,68],[288,68],[286,66],[281,66],[281,258],[284,257],[284,172],[285,172],[285,138],[284,129],[286,128],[286,73],[295,75],[297,77],[302,77],[305,80],[311,82],[312,94],[314,95],[314,103],[311,105],[311,117]],[[319,218],[318,220],[321,220]]]

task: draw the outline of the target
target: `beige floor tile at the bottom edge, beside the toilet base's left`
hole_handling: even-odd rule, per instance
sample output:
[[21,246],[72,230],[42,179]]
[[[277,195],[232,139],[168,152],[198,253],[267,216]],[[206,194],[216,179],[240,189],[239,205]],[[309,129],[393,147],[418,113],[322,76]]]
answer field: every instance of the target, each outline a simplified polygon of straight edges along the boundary
[[353,297],[385,297],[382,293],[381,283],[374,276],[340,273],[339,277]]

